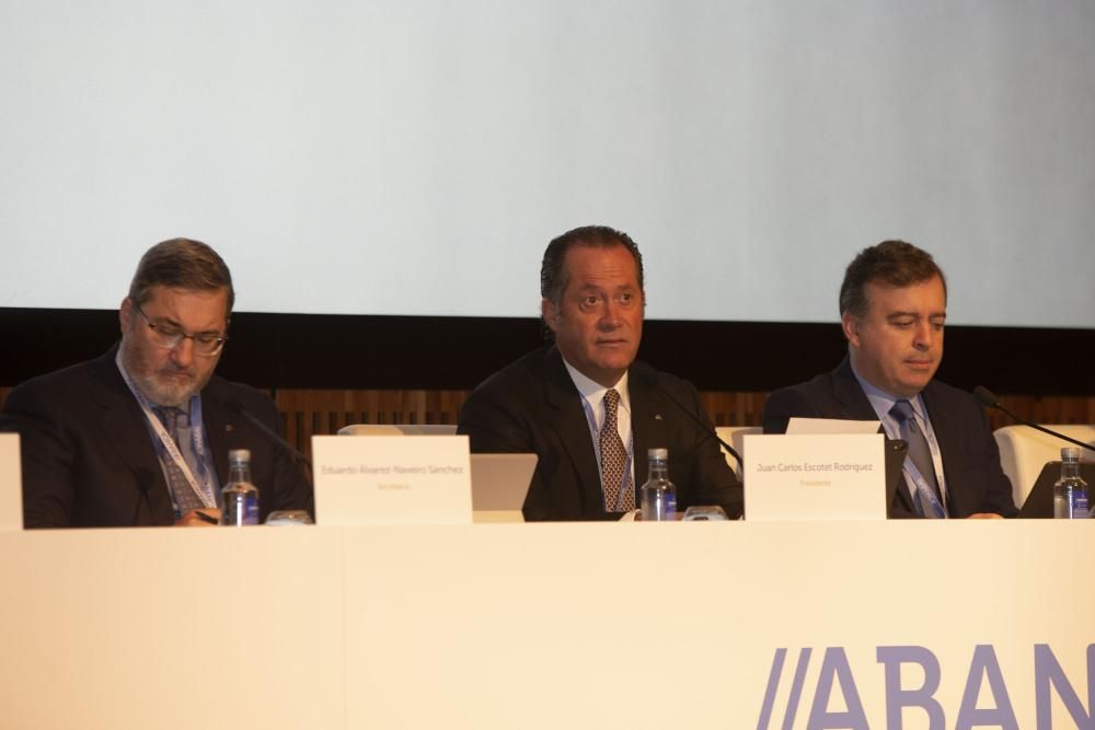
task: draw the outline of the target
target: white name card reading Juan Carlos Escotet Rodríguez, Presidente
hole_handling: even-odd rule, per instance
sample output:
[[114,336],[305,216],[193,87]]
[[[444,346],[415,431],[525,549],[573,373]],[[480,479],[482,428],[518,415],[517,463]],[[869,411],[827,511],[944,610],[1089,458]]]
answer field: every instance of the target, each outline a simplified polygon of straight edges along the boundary
[[749,434],[747,520],[885,520],[885,437]]

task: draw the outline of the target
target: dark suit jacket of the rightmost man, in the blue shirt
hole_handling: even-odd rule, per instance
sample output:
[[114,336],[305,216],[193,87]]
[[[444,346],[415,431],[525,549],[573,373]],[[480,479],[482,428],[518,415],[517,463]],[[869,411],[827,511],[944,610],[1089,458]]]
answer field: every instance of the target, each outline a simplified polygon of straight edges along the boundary
[[[1012,484],[1000,468],[1000,450],[984,409],[969,393],[935,380],[922,395],[943,454],[948,514],[963,518],[995,512],[1014,517],[1017,510]],[[848,358],[830,373],[772,393],[764,404],[764,432],[785,432],[793,416],[878,420]],[[899,488],[890,505],[890,517],[911,515],[909,493]]]

